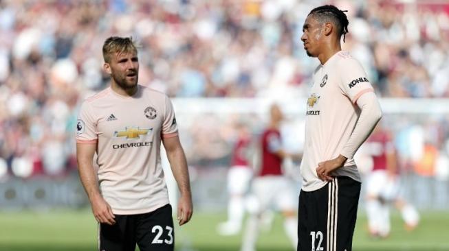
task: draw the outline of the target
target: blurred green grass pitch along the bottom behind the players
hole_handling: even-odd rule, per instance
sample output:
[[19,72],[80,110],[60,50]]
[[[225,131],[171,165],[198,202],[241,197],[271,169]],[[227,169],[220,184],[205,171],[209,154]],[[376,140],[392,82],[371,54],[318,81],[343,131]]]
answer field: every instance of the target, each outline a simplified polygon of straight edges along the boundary
[[[238,251],[241,235],[221,237],[217,224],[223,214],[195,213],[192,222],[177,227],[177,251]],[[390,237],[371,239],[366,235],[366,217],[359,215],[355,227],[355,251],[449,250],[449,212],[421,213],[421,224],[407,232],[399,215],[393,215]],[[96,250],[97,226],[88,210],[42,212],[0,212],[1,251],[87,251]],[[276,216],[271,230],[261,231],[258,251],[291,251],[283,232],[282,218]]]

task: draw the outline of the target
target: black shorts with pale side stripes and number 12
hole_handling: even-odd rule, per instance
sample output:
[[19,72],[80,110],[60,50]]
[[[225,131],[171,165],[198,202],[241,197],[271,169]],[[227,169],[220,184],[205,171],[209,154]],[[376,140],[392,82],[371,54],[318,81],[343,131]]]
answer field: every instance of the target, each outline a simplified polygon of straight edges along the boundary
[[303,191],[298,206],[298,251],[351,251],[360,182],[336,177],[316,191]]

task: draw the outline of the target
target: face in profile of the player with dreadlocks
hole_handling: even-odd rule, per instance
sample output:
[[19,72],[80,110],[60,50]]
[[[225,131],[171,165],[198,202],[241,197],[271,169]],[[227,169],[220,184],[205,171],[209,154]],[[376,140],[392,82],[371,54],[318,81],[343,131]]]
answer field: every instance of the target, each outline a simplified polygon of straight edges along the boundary
[[307,16],[303,25],[303,36],[301,36],[307,56],[318,56],[322,36],[324,36],[322,34],[322,24],[318,23],[313,15]]

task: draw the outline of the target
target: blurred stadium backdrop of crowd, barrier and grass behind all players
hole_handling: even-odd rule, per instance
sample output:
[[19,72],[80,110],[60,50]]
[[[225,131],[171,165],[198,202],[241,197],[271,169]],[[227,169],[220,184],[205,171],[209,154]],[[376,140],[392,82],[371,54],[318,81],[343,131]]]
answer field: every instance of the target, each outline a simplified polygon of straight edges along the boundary
[[[388,239],[369,239],[361,201],[355,249],[449,250],[449,3],[432,0],[0,1],[0,250],[95,248],[74,130],[80,102],[108,84],[101,47],[111,35],[138,40],[140,84],[175,104],[195,204],[177,250],[238,250],[240,235],[215,232],[226,217],[233,125],[245,121],[256,137],[276,101],[287,116],[285,147],[301,150],[318,61],[299,38],[323,3],[349,11],[343,48],[382,98],[404,195],[422,217],[406,232],[395,215]],[[358,164],[369,169],[363,156]],[[289,250],[277,217],[259,249]]]

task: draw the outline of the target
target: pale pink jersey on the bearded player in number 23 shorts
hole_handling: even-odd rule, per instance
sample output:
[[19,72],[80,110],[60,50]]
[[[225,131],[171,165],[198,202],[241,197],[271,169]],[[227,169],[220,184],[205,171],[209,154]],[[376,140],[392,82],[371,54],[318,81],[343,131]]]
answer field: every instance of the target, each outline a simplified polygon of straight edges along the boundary
[[160,145],[177,136],[177,124],[166,95],[140,85],[132,97],[106,88],[83,102],[76,127],[77,143],[97,145],[99,187],[114,214],[168,204]]

